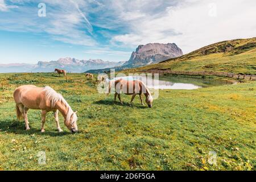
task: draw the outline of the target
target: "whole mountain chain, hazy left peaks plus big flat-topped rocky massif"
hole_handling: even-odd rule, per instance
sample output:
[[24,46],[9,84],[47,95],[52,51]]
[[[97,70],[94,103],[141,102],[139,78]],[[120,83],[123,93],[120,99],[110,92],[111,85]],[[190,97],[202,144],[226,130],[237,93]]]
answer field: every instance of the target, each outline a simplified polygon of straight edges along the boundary
[[55,68],[65,69],[67,72],[104,72],[110,68],[122,70],[140,67],[152,63],[159,63],[174,57],[182,56],[183,52],[175,43],[150,43],[140,45],[131,53],[126,62],[103,61],[101,59],[78,60],[71,57],[60,58],[57,61],[39,61],[38,64],[0,64],[0,73],[10,72],[53,72]]

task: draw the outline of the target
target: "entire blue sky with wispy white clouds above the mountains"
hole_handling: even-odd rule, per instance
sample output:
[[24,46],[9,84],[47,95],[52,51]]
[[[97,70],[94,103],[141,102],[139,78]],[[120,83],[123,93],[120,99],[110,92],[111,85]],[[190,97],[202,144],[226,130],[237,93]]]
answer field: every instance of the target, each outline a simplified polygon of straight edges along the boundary
[[188,53],[256,36],[255,7],[255,0],[0,0],[0,63],[126,61],[139,44],[156,42]]

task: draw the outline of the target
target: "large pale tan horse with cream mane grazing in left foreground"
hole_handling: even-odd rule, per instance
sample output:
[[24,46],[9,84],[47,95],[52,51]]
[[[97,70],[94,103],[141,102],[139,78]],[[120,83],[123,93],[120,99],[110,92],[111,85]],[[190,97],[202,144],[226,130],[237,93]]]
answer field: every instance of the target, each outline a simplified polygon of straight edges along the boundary
[[46,114],[49,111],[54,112],[54,117],[59,132],[60,129],[58,113],[63,115],[64,124],[68,129],[75,133],[77,132],[77,112],[74,112],[65,101],[63,96],[55,92],[49,86],[39,88],[34,85],[23,85],[15,89],[13,93],[16,103],[16,115],[18,119],[24,118],[26,130],[29,130],[27,112],[28,109],[42,110],[42,126],[41,131],[44,132],[44,123],[46,122]]

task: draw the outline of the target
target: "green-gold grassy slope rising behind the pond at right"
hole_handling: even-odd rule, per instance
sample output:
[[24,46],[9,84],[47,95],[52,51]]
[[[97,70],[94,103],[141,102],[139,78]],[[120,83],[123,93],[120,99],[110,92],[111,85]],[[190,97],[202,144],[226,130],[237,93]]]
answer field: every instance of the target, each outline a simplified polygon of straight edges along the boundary
[[129,72],[144,72],[155,68],[256,75],[256,38],[219,42],[159,64],[129,69]]

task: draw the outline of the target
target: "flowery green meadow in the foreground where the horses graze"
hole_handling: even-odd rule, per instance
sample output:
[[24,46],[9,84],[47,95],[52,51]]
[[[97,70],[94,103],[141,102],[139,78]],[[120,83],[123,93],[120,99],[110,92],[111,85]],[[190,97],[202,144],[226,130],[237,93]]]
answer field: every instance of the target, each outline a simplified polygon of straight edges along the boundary
[[[240,54],[241,55],[241,54]],[[153,108],[115,104],[97,93],[83,74],[68,81],[53,73],[0,74],[0,169],[255,170],[256,82],[198,90],[160,90]],[[10,85],[6,85],[9,82]],[[28,111],[30,131],[16,120],[13,90],[49,85],[78,110],[79,133],[57,133],[48,113],[40,133],[40,111]],[[0,85],[1,86],[1,85]],[[38,164],[45,151],[47,164]],[[208,164],[209,151],[217,165]]]

